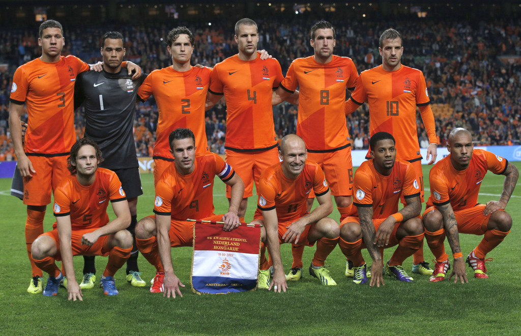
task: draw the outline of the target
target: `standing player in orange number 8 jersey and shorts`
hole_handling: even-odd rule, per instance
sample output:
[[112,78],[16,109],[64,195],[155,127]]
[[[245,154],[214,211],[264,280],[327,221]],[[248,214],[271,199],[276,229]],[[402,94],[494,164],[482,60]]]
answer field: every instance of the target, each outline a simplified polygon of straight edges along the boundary
[[[279,104],[299,87],[299,114],[296,134],[307,147],[309,160],[320,165],[340,212],[340,221],[351,214],[353,164],[351,142],[343,113],[346,90],[353,91],[358,72],[349,57],[333,55],[336,44],[331,23],[319,21],[311,28],[311,46],[314,55],[297,58],[286,78],[273,94],[273,104]],[[314,196],[310,193],[308,209]],[[317,250],[329,254],[338,239],[321,239]],[[293,267],[288,280],[299,280],[303,248],[292,249]]]

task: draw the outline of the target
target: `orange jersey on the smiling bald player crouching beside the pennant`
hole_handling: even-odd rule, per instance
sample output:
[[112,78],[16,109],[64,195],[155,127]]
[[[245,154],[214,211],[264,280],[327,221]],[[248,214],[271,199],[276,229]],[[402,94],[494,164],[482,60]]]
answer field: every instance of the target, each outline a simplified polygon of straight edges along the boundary
[[284,175],[281,163],[274,164],[261,175],[255,217],[262,215],[261,210],[276,209],[279,223],[294,222],[306,214],[307,196],[312,189],[316,196],[329,191],[324,172],[315,162],[306,162],[295,179]]

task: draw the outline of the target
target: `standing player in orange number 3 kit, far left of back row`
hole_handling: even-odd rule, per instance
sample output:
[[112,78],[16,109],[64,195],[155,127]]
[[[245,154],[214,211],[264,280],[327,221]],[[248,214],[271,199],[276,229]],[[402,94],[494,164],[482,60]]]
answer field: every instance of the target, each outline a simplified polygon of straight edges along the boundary
[[[25,236],[32,269],[27,291],[33,294],[42,292],[43,273],[32,260],[31,244],[43,233],[51,191],[67,174],[67,156],[76,141],[74,84],[79,73],[90,69],[75,56],[60,56],[65,39],[57,21],[47,20],[40,25],[38,45],[42,47],[42,56],[15,71],[9,106],[9,129],[23,178],[23,204],[27,205]],[[128,70],[135,70],[133,79],[141,75],[135,64],[129,64]],[[20,119],[25,112],[24,104],[28,126],[22,143]]]

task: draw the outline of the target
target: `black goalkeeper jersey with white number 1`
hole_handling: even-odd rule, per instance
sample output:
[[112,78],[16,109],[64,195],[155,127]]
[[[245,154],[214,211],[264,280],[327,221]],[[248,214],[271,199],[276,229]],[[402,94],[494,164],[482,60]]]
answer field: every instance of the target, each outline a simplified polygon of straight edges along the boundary
[[77,77],[75,108],[85,108],[85,137],[100,146],[102,167],[138,166],[132,130],[138,88],[145,77],[134,81],[124,68],[119,73],[86,71]]

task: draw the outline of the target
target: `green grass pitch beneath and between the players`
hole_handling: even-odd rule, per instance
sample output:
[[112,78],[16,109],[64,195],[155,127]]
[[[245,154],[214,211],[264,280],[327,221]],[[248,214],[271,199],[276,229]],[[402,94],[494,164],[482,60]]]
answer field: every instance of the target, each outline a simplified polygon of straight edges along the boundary
[[[521,163],[515,163],[521,168]],[[424,166],[428,176],[429,166]],[[499,200],[503,176],[487,174],[479,201]],[[142,176],[145,194],[139,198],[138,218],[152,213],[153,178]],[[426,178],[428,190],[428,178]],[[517,187],[507,206],[513,227],[499,247],[489,253],[490,279],[474,279],[467,267],[469,283],[453,281],[430,283],[427,276],[415,275],[413,283],[386,279],[386,286],[370,288],[354,285],[344,277],[345,258],[336,248],[326,264],[338,286],[320,285],[304,270],[301,281],[290,282],[287,293],[264,290],[229,294],[196,295],[190,288],[191,248],[172,249],[174,270],[186,285],[183,297],[166,299],[151,294],[148,287],[133,288],[124,269],[116,274],[120,294],[109,297],[101,289],[83,291],[83,302],[67,301],[60,288],[52,298],[26,292],[30,268],[24,244],[23,225],[26,207],[9,196],[10,179],[0,179],[0,334],[180,334],[180,335],[255,335],[255,334],[521,334],[521,187]],[[224,213],[227,200],[224,187],[216,182],[216,213]],[[253,216],[256,199],[251,198],[246,219]],[[316,204],[316,203],[315,203]],[[109,207],[110,208],[110,207]],[[111,216],[113,214],[110,213]],[[338,220],[335,209],[332,217]],[[47,207],[44,228],[54,222]],[[466,256],[481,237],[460,235]],[[446,243],[445,243],[446,244]],[[448,251],[448,244],[446,244]],[[385,259],[394,249],[386,251]],[[432,254],[425,243],[425,259]],[[286,272],[291,267],[290,245],[281,248]],[[304,265],[311,262],[314,248],[306,248]],[[366,261],[370,258],[365,253]],[[98,276],[107,259],[96,257]],[[452,261],[452,260],[451,260]],[[432,265],[432,263],[431,263]],[[154,268],[143,256],[139,266],[145,280]],[[411,271],[412,258],[404,263]],[[75,258],[77,277],[83,261]],[[125,266],[123,266],[125,267]],[[305,266],[306,267],[306,266]],[[45,282],[47,275],[44,275]],[[45,283],[44,283],[45,285]]]

